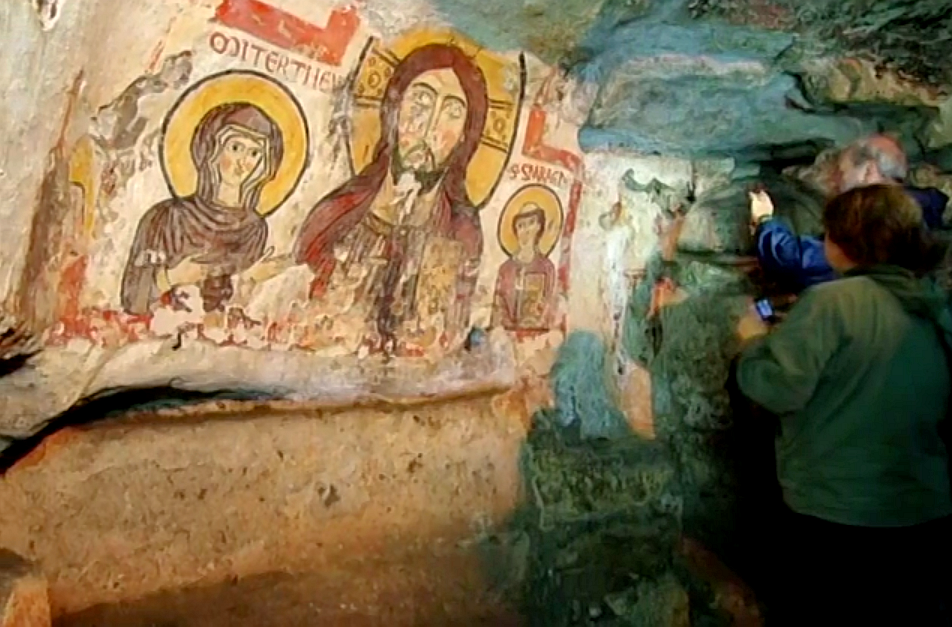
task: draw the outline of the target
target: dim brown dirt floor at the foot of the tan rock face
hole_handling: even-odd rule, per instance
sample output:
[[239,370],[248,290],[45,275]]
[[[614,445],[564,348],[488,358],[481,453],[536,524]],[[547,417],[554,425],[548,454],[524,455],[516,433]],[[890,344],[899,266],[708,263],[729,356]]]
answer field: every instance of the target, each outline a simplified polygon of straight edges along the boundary
[[56,627],[520,627],[463,555],[360,560],[315,573],[271,573],[137,602],[101,605]]

